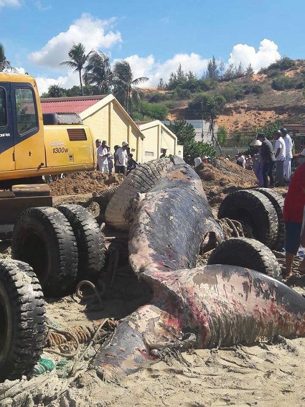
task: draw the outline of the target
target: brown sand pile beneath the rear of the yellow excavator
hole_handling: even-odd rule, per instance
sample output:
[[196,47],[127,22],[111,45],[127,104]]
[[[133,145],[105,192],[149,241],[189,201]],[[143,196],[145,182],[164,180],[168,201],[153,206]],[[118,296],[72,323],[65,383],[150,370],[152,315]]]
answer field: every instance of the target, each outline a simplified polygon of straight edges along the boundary
[[104,174],[100,171],[74,172],[67,177],[54,181],[50,184],[53,196],[86,194],[101,192],[110,184],[118,185],[124,177],[120,174]]

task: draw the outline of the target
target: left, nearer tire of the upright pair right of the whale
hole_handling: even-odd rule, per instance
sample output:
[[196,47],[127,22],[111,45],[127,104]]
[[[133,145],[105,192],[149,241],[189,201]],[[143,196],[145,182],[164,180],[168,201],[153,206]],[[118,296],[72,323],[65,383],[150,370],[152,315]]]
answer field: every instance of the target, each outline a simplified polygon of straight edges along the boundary
[[239,190],[222,201],[218,217],[235,219],[252,228],[253,237],[273,248],[278,238],[279,221],[275,208],[258,191]]

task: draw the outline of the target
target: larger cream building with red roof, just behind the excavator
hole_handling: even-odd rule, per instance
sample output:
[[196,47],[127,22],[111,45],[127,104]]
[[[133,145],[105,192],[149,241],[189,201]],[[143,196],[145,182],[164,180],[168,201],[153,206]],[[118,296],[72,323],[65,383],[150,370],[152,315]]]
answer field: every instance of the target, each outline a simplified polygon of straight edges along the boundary
[[143,162],[144,136],[113,95],[42,98],[41,106],[43,113],[78,113],[95,139],[105,139],[112,152],[116,144],[127,141],[134,158]]

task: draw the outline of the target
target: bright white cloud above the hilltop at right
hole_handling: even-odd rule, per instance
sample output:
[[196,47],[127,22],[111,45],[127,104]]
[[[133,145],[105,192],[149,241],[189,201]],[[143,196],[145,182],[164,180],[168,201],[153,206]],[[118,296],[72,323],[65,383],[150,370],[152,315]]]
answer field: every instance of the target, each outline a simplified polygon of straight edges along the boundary
[[234,45],[228,63],[238,66],[239,62],[241,62],[241,65],[245,68],[251,64],[254,72],[257,72],[280,58],[281,54],[278,51],[278,45],[271,40],[264,39],[260,42],[258,51],[247,44]]

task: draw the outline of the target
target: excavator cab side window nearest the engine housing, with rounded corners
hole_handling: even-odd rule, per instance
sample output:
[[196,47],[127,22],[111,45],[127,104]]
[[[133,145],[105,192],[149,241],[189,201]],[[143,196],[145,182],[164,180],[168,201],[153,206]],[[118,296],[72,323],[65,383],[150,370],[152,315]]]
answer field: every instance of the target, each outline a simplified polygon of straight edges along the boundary
[[38,126],[35,97],[31,88],[17,88],[15,96],[17,130],[20,136],[22,136]]

